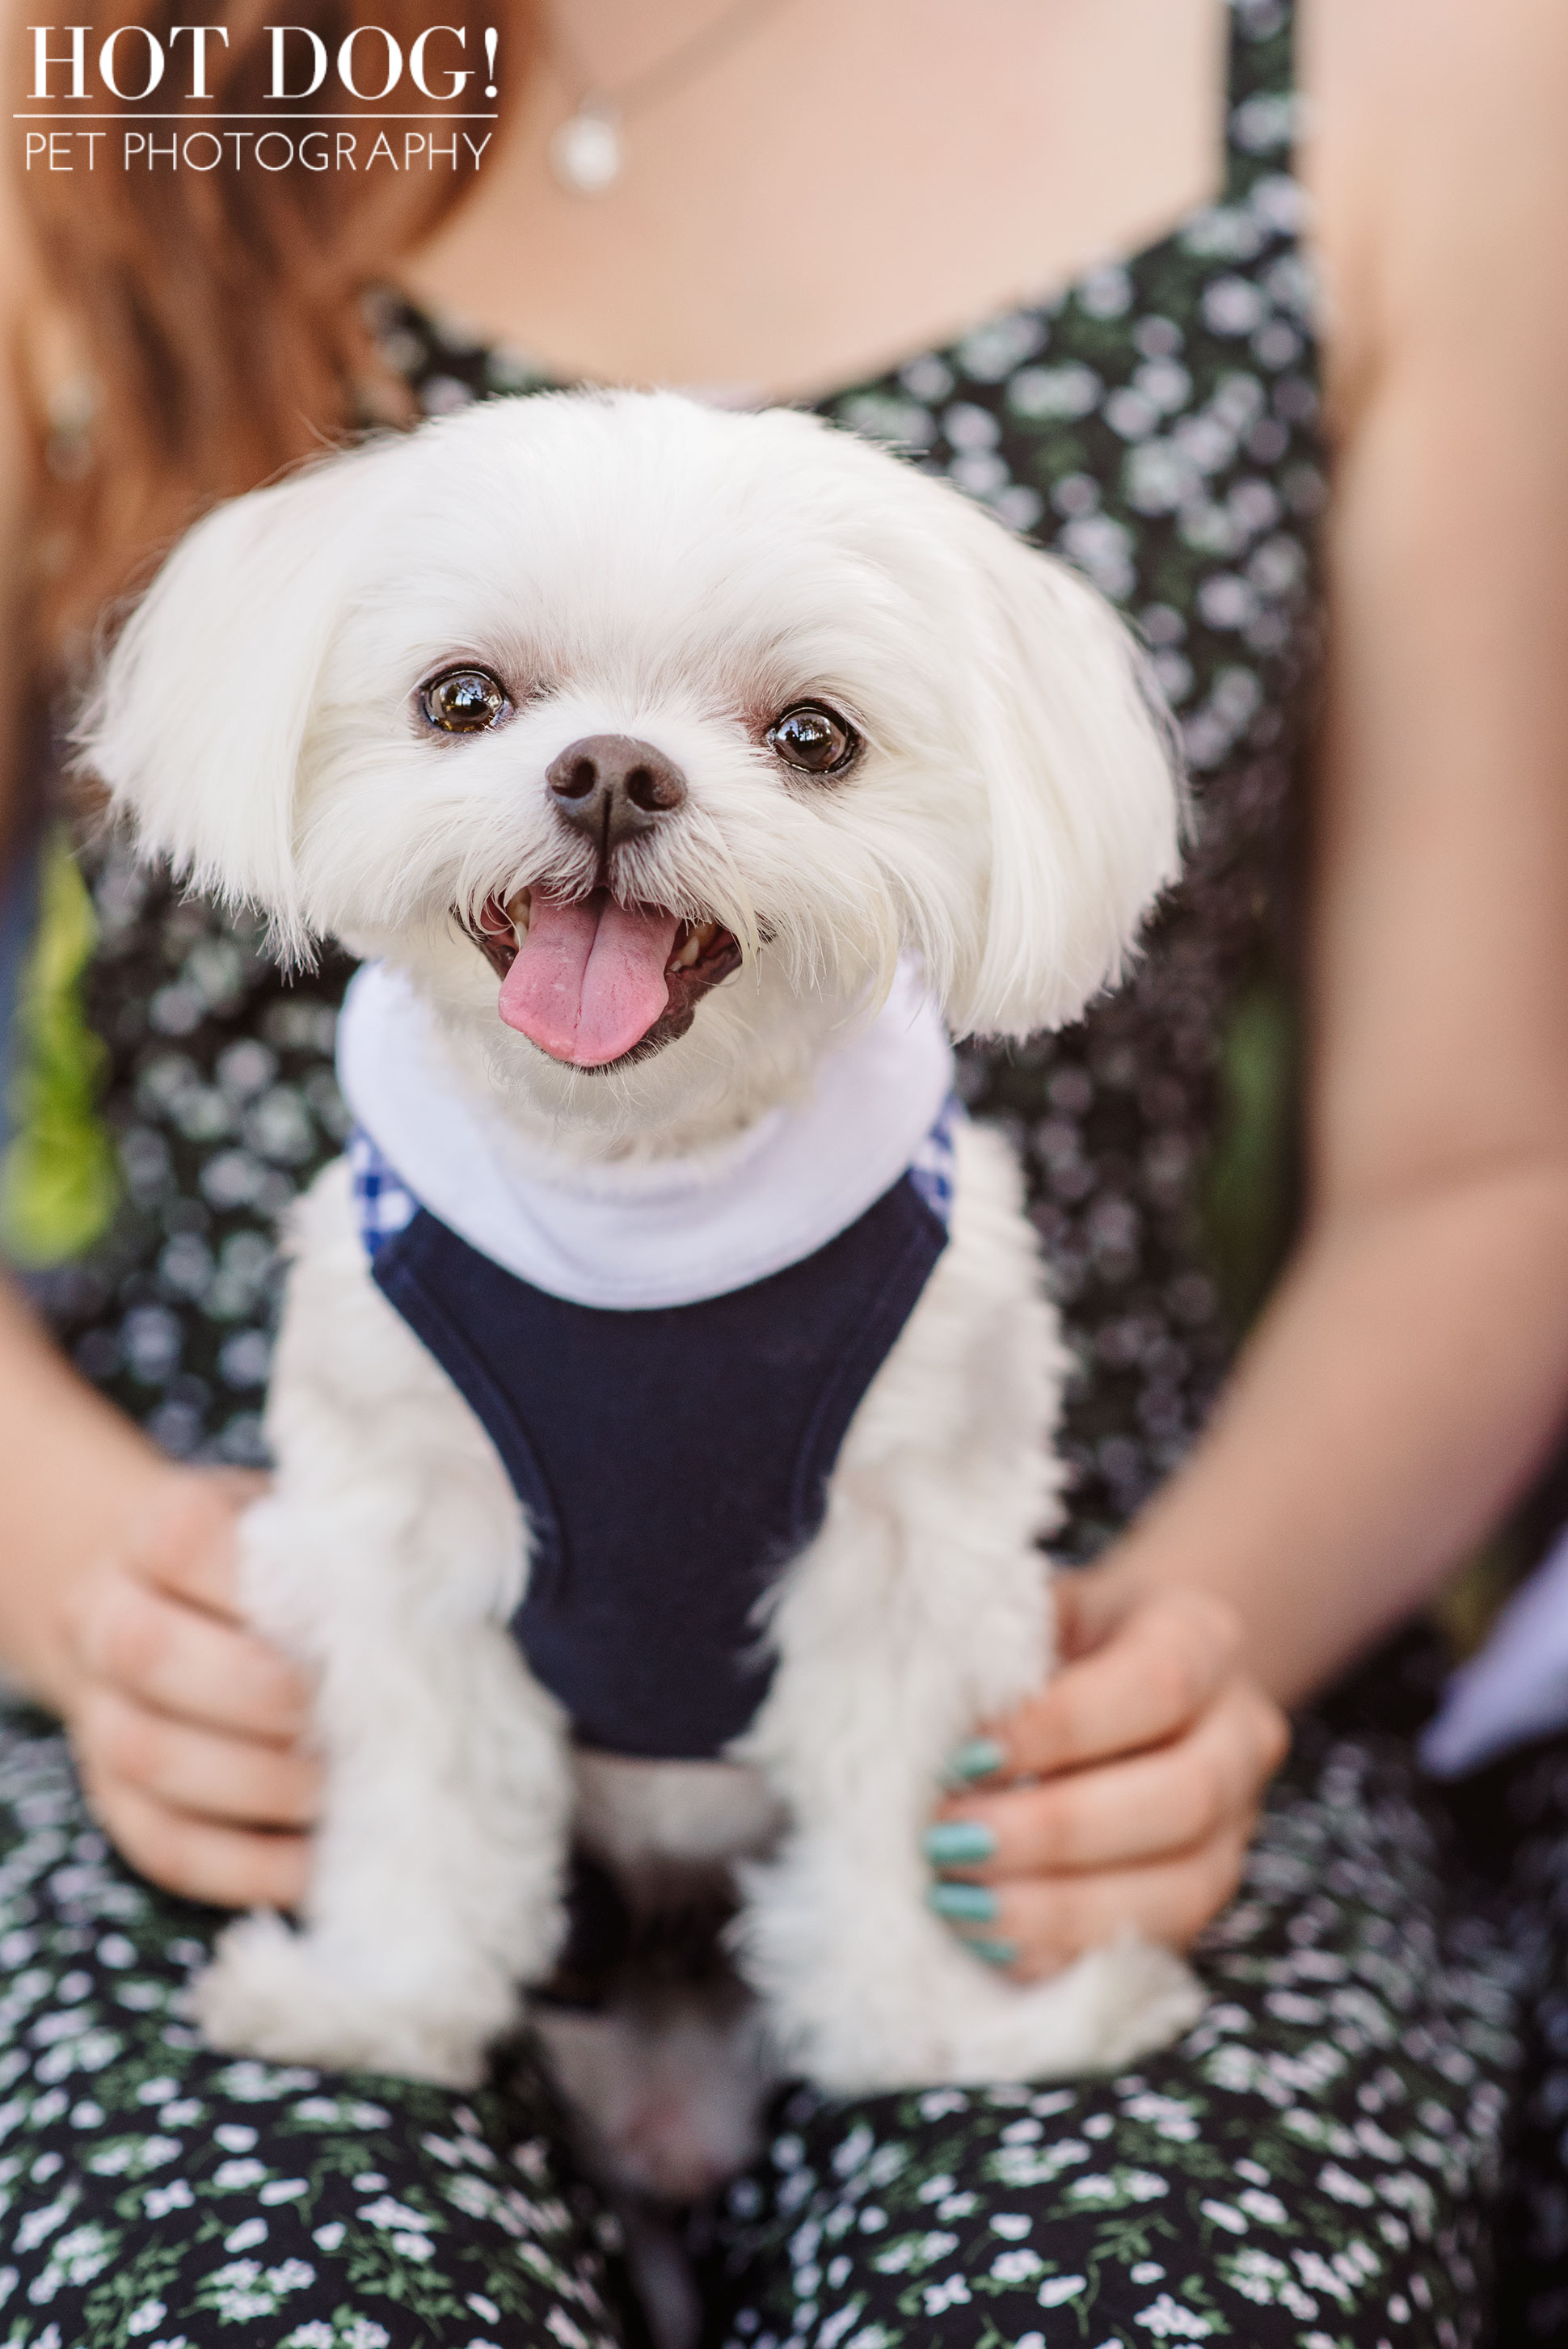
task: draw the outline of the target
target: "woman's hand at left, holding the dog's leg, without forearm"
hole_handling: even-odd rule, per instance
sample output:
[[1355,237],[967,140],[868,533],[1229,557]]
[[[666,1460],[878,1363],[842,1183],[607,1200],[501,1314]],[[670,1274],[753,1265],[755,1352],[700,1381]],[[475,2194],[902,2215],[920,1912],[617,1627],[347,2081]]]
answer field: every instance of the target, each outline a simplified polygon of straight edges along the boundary
[[221,1907],[305,1891],[310,1687],[244,1628],[235,1520],[258,1478],[171,1470],[66,1600],[66,1715],[87,1802],[155,1884]]

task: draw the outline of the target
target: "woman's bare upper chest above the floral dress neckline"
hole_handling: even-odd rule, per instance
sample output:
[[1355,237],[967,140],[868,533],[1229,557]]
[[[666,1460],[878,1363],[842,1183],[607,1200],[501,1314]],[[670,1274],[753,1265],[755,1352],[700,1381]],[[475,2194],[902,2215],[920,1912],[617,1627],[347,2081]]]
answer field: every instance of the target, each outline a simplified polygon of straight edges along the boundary
[[[559,378],[789,397],[1138,249],[1221,179],[1214,0],[784,0],[657,80],[688,19],[556,9],[570,49],[547,38],[418,298]],[[601,197],[549,169],[587,87],[620,110]]]

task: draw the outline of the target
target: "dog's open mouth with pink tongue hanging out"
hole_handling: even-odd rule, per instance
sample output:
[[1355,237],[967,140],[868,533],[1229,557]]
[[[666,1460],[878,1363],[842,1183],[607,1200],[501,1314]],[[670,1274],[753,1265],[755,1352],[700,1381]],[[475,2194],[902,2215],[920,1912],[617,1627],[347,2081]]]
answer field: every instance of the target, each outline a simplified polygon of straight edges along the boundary
[[692,1024],[697,1003],[739,968],[739,944],[716,921],[662,907],[516,890],[486,897],[469,937],[500,977],[500,1017],[573,1069],[646,1059]]

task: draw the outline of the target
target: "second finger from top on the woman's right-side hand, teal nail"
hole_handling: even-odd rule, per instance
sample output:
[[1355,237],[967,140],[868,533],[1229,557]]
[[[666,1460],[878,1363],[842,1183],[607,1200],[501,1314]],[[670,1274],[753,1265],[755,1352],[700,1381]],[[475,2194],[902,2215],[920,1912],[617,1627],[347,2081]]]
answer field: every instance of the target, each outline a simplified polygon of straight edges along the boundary
[[944,1872],[995,1882],[1190,1851],[1228,1825],[1251,1823],[1286,1745],[1282,1712],[1237,1682],[1174,1745],[946,1802],[927,1858]]

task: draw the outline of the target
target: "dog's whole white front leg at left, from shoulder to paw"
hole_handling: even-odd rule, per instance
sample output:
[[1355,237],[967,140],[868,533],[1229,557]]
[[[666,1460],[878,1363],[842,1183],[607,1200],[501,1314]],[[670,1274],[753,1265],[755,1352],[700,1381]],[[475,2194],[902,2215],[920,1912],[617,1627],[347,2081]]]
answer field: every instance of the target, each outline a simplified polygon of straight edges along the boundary
[[300,1926],[230,1926],[197,2015],[218,2046],[467,2086],[559,1945],[568,1759],[505,1630],[521,1513],[371,1283],[343,1167],[300,1217],[268,1428],[242,1586],[319,1675],[326,1809]]

